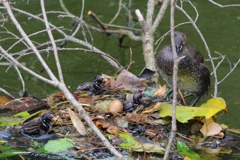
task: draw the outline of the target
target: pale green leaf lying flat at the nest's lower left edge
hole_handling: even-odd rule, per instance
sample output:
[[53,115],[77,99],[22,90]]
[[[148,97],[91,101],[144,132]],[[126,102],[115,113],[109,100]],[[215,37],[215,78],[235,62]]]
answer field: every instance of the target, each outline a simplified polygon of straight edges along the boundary
[[63,138],[58,140],[50,140],[47,144],[45,144],[44,149],[47,152],[64,152],[68,150],[68,148],[74,147],[74,142],[72,139],[69,138]]

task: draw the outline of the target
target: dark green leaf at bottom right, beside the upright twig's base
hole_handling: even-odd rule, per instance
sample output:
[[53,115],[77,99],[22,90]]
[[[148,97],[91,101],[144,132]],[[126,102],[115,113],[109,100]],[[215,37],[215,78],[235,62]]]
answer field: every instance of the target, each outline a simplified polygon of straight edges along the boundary
[[200,159],[200,156],[197,153],[190,150],[188,146],[183,142],[180,142],[180,141],[178,142],[177,150],[181,156],[187,156],[191,158],[191,160]]

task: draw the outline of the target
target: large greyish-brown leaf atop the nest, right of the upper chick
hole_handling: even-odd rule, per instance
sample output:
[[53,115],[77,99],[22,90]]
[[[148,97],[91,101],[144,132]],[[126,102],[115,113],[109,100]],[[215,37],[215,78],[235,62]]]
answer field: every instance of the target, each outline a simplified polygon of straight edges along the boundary
[[123,70],[116,79],[115,87],[124,88],[125,90],[145,90],[146,80],[140,79],[131,72]]

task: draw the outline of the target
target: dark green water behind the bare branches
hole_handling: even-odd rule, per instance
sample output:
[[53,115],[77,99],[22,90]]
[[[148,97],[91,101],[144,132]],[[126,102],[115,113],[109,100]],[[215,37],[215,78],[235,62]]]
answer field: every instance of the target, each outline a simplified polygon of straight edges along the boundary
[[[64,1],[69,9],[69,11],[74,15],[80,15],[81,12],[81,1],[71,0]],[[88,0],[85,1],[85,10],[84,10],[84,20],[87,23],[94,24],[93,20],[87,16],[88,10],[92,10],[103,22],[109,22],[115,12],[117,11],[118,3],[117,1],[93,1]],[[239,26],[240,26],[240,7],[230,7],[230,8],[219,8],[214,6],[210,2],[207,1],[192,1],[196,6],[199,12],[199,19],[197,21],[197,25],[199,29],[202,31],[203,36],[205,37],[208,46],[210,48],[211,54],[213,57],[217,57],[215,51],[226,55],[228,59],[232,62],[232,65],[240,58],[240,34],[239,34]],[[240,3],[239,0],[229,0],[223,3]],[[26,4],[26,1],[17,1],[15,7],[29,10],[31,13],[41,13],[41,8],[39,5],[39,1],[32,0]],[[59,6],[59,1],[46,1],[47,10],[61,10]],[[124,5],[128,5],[128,2],[124,1]],[[132,16],[135,20],[132,25],[139,26],[136,21],[136,17],[134,14],[134,10],[139,8],[143,13],[146,11],[146,1],[133,1],[132,5]],[[157,7],[156,10],[158,10]],[[188,5],[184,3],[184,8],[186,9],[191,17],[195,17],[194,10]],[[2,10],[1,10],[2,11]],[[16,18],[21,22],[23,28],[25,28],[28,34],[32,33],[33,30],[43,29],[44,26],[40,22],[36,22],[34,20],[28,20],[25,16],[20,14],[16,14]],[[57,19],[57,20],[56,20]],[[67,18],[58,18],[56,14],[49,15],[49,21],[54,23],[57,26],[65,26],[67,28],[71,28],[74,21],[69,20]],[[55,22],[56,21],[56,22]],[[176,11],[176,23],[184,22],[186,18],[182,13]],[[127,24],[127,14],[124,9],[122,9],[120,16],[115,20],[114,24],[117,25],[126,25]],[[14,26],[11,22],[7,22],[5,24],[11,31],[14,31],[16,34],[17,31],[14,29]],[[156,39],[162,36],[169,29],[169,10],[167,11],[166,16],[161,23],[157,33]],[[183,25],[178,27],[177,29],[183,30],[187,33],[187,43],[196,46],[200,52],[203,54],[205,59],[208,59],[205,47],[197,35],[197,32],[190,25]],[[0,28],[2,31],[2,28]],[[95,31],[91,31],[91,34],[94,38],[94,45],[100,50],[110,54],[114,58],[116,58],[123,66],[129,63],[130,51],[129,47],[132,48],[133,52],[133,60],[135,63],[132,65],[130,71],[134,74],[139,74],[141,70],[144,68],[144,60],[142,55],[142,45],[141,42],[133,42],[129,38],[125,38],[123,48],[119,48],[117,46],[118,36],[111,35],[106,36],[106,34],[98,33]],[[19,34],[18,34],[19,35]],[[5,37],[5,34],[0,35],[0,38]],[[59,35],[56,34],[55,37]],[[81,32],[77,34],[77,37],[82,37]],[[46,41],[47,35],[41,34],[39,36],[35,36],[32,39],[43,42]],[[168,44],[170,41],[169,37],[166,37],[160,48],[163,45]],[[89,39],[89,42],[91,40]],[[11,45],[13,41],[8,40],[0,42],[0,44],[7,48],[7,46]],[[69,43],[69,46],[76,47],[76,44]],[[6,46],[6,47],[5,47]],[[80,47],[80,46],[79,46]],[[156,52],[159,51],[158,48]],[[13,50],[12,52],[17,51]],[[96,74],[109,74],[113,75],[116,72],[116,69],[110,66],[103,58],[100,56],[89,53],[89,52],[73,52],[73,51],[60,51],[59,56],[62,62],[62,69],[64,73],[64,78],[67,86],[71,91],[74,91],[78,84],[91,81],[92,78]],[[56,67],[54,64],[54,57],[51,54],[44,53],[44,59],[46,59],[48,65],[51,66],[52,70],[56,72]],[[27,65],[36,71],[37,73],[46,76],[46,72],[43,70],[43,67],[39,65],[39,62],[36,60],[34,56],[29,56],[26,58],[22,58],[21,62],[27,63]],[[217,61],[215,62],[217,64]],[[209,61],[206,61],[206,65],[212,71],[211,65]],[[235,71],[223,82],[219,85],[219,96],[223,97],[227,103],[228,113],[220,117],[220,122],[229,125],[232,128],[240,128],[240,85],[239,85],[239,66],[235,69]],[[0,66],[0,84],[1,87],[11,92],[13,95],[17,96],[19,90],[22,89],[21,82],[17,77],[16,71],[14,68],[10,68],[6,70],[7,67]],[[33,78],[29,74],[21,71],[26,82],[26,86],[28,91],[31,94],[40,97],[46,97],[49,94],[56,91],[56,89],[50,85],[47,85],[36,78]],[[224,61],[221,66],[218,68],[218,78],[221,79],[225,76],[226,73],[229,72],[229,64],[227,61]],[[160,80],[163,84],[164,81]],[[212,77],[213,82],[213,77]],[[213,85],[212,85],[213,86]],[[1,94],[1,93],[0,93]],[[213,95],[213,88],[211,88],[207,97],[203,98],[201,102],[204,102],[208,98]]]

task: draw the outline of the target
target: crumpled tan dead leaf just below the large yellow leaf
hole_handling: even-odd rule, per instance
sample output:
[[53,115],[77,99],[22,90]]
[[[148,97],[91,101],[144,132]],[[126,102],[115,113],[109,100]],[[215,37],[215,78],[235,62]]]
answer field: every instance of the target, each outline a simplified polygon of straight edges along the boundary
[[222,127],[213,121],[212,118],[206,120],[202,128],[200,129],[201,133],[203,134],[204,138],[208,136],[214,136],[221,132]]

